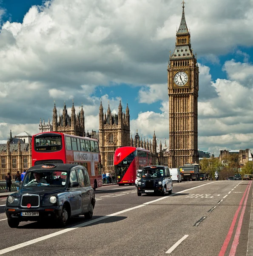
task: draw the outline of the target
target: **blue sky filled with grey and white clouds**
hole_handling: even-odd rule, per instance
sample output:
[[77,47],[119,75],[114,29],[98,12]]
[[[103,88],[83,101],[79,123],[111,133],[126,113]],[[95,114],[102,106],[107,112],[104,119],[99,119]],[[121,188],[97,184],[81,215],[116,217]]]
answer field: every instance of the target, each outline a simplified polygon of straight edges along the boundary
[[[182,0],[0,0],[0,140],[81,104],[128,102],[131,133],[168,145],[167,65]],[[187,0],[199,63],[201,150],[253,148],[253,0]]]

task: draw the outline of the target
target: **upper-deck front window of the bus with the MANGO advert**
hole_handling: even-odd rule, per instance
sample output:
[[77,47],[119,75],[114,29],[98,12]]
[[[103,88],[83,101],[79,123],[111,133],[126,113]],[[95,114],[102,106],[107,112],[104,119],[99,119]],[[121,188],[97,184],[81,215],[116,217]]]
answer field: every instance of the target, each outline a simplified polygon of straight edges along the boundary
[[38,152],[60,151],[62,137],[60,134],[40,134],[34,137],[34,149]]

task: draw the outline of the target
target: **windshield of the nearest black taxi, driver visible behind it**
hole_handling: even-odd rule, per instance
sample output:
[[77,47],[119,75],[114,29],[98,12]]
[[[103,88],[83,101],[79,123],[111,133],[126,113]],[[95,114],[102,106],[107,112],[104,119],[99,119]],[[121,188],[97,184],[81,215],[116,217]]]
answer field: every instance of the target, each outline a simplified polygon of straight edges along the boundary
[[67,172],[34,170],[26,174],[23,186],[65,186]]

